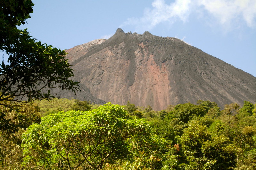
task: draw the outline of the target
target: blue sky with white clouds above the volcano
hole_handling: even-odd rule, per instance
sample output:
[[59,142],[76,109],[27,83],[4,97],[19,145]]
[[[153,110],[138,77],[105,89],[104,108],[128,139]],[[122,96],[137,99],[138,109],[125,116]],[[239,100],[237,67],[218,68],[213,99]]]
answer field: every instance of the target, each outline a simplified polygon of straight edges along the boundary
[[35,0],[30,35],[69,49],[117,28],[176,37],[256,77],[256,0]]

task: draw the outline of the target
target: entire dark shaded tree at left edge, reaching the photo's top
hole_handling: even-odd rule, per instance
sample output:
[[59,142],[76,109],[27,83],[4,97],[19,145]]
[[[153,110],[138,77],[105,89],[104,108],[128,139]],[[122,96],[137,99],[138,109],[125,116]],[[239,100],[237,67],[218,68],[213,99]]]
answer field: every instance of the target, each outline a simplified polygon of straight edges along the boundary
[[[50,89],[57,87],[76,92],[79,86],[70,79],[74,74],[65,58],[67,53],[36,42],[27,29],[16,27],[30,18],[32,1],[1,0],[0,4],[0,51],[8,55],[8,63],[0,64],[0,101],[51,99],[54,95]],[[0,102],[6,107],[15,107],[14,104],[22,103]],[[2,115],[0,119],[6,121]]]

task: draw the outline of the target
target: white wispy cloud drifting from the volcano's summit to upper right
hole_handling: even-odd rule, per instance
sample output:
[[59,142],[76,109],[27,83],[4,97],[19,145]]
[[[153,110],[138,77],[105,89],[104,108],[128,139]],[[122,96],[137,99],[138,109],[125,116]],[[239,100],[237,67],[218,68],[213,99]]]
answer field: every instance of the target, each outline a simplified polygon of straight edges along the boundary
[[[190,14],[207,16],[220,25],[246,26],[255,28],[255,0],[175,0],[167,4],[164,0],[154,0],[152,8],[146,8],[140,18],[128,18],[120,27],[133,25],[136,31],[151,30],[162,22],[175,23],[189,20]],[[202,15],[203,14],[203,15]]]

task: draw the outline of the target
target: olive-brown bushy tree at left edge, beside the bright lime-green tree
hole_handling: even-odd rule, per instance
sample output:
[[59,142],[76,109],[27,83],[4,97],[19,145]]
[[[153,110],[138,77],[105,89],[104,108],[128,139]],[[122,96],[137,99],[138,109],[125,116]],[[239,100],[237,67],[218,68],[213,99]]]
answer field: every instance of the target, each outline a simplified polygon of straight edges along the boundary
[[36,104],[15,109],[0,105],[0,113],[10,120],[8,123],[11,125],[9,129],[0,129],[0,169],[22,169],[21,136],[32,123],[41,121],[41,115],[38,112],[39,107]]

